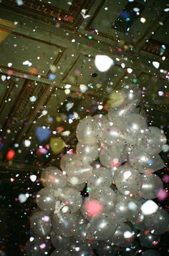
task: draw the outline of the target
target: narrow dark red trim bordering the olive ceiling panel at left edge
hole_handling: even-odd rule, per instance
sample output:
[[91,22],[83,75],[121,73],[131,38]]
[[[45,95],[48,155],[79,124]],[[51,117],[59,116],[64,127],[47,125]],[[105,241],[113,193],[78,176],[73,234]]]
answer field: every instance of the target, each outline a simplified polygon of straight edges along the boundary
[[[66,49],[65,47],[62,47],[62,46],[60,46],[58,44],[54,44],[54,43],[51,43],[51,42],[44,41],[42,39],[37,39],[37,38],[34,38],[34,37],[30,37],[30,36],[28,36],[26,34],[21,34],[19,32],[12,32],[11,30],[4,29],[2,27],[0,27],[0,31],[8,32],[9,34],[14,34],[14,35],[17,35],[19,37],[24,37],[24,38],[31,39],[31,40],[34,40],[34,41],[37,41],[37,42],[42,42],[43,44],[51,45],[51,46],[54,46],[54,47],[57,47],[57,48],[61,49],[59,51],[59,54],[57,55],[56,59],[54,60],[53,65],[57,65],[57,62],[59,62],[60,58],[62,57],[62,54],[64,53],[64,50]],[[9,67],[6,66],[6,65],[0,65],[0,68],[9,70]],[[51,74],[50,70],[48,70],[46,75],[42,75],[42,74],[38,74],[38,73],[37,74],[33,74],[32,72],[27,72],[25,70],[19,70],[19,69],[16,69],[14,67],[10,67],[10,70],[14,71],[14,72],[19,72],[19,73],[22,73],[22,74],[26,74],[26,75],[33,75],[35,77],[40,75],[42,78],[46,78],[46,79],[48,78],[49,74]]]

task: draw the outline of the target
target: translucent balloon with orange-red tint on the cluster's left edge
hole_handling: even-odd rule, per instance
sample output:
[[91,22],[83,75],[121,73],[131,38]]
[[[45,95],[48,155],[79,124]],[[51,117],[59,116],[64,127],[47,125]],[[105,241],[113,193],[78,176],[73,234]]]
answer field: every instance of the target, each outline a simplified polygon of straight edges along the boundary
[[42,172],[41,180],[42,184],[50,189],[64,188],[67,186],[67,179],[62,174],[62,171],[54,166],[47,167]]

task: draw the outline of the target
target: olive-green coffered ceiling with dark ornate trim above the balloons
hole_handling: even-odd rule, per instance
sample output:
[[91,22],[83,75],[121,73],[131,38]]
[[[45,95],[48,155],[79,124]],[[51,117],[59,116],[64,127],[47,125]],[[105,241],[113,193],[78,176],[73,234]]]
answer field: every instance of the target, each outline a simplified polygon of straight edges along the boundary
[[[48,148],[49,140],[37,138],[36,128],[49,128],[69,149],[79,118],[100,113],[98,105],[126,83],[136,81],[145,90],[145,108],[168,113],[167,0],[17,3],[0,4],[1,171],[57,164],[59,156]],[[98,72],[96,54],[108,55],[115,65]],[[39,156],[39,146],[48,153]],[[6,159],[11,148],[12,162]]]

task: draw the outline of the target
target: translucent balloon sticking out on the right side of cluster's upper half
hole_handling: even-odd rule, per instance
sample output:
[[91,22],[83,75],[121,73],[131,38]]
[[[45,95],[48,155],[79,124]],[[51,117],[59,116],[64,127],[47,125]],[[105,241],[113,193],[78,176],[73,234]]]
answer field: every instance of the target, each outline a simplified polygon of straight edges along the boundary
[[143,133],[143,138],[140,142],[140,146],[143,148],[145,153],[149,155],[155,155],[162,151],[162,146],[167,142],[167,138],[164,133],[157,127],[149,126],[145,133]]

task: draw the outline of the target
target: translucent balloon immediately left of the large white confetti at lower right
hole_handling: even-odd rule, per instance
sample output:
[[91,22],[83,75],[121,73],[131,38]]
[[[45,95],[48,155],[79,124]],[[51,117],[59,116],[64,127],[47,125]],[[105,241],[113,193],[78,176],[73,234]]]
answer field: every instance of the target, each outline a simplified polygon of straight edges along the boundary
[[129,222],[140,212],[135,199],[129,196],[117,196],[117,204],[115,206],[115,217],[120,222]]

